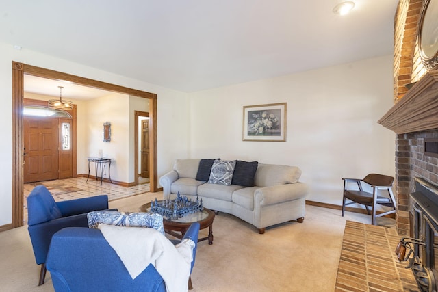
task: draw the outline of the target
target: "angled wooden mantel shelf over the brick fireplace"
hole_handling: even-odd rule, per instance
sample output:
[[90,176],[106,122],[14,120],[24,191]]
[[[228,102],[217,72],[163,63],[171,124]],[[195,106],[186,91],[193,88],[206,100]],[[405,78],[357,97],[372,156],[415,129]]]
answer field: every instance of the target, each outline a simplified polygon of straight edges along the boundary
[[438,129],[438,70],[427,72],[378,123],[397,134]]

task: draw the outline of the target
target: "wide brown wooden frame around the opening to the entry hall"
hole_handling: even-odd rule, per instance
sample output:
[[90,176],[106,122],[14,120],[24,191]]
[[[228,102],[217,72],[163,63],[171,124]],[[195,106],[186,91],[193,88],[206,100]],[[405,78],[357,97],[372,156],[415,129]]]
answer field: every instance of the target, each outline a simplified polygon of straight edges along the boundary
[[[78,85],[149,99],[151,191],[157,180],[157,94],[12,61],[12,228],[23,226],[23,103],[24,75],[70,81]],[[138,162],[137,162],[138,163]]]

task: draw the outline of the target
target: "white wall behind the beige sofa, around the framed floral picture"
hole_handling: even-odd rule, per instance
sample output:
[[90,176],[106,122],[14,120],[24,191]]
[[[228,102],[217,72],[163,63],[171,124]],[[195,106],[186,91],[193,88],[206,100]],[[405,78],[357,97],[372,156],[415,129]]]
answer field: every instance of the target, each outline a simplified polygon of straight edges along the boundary
[[[190,156],[297,165],[307,200],[342,204],[343,177],[394,176],[392,55],[190,94]],[[244,105],[287,103],[287,142],[243,142]]]

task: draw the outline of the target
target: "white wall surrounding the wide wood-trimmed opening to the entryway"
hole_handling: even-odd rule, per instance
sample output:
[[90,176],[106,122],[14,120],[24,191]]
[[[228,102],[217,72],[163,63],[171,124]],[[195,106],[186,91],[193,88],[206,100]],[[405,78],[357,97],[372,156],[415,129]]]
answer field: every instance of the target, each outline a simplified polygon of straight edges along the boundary
[[25,48],[16,51],[12,44],[0,42],[0,226],[12,222],[12,61],[157,94],[158,176],[172,168],[175,158],[188,157],[188,94]]

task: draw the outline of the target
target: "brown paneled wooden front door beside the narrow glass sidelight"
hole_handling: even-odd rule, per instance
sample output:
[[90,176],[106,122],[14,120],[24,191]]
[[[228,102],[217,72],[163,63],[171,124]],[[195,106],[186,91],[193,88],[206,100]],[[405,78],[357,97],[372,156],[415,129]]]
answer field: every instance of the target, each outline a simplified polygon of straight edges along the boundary
[[58,119],[24,118],[24,182],[58,178]]

